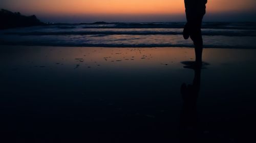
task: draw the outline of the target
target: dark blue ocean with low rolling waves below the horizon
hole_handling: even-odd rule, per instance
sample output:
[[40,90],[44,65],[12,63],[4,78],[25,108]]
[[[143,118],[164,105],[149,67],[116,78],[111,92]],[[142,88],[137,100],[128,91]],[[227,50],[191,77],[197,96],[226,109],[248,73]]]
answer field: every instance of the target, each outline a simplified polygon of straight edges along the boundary
[[[49,24],[0,31],[1,45],[193,47],[185,22]],[[205,48],[256,48],[256,22],[204,22]]]

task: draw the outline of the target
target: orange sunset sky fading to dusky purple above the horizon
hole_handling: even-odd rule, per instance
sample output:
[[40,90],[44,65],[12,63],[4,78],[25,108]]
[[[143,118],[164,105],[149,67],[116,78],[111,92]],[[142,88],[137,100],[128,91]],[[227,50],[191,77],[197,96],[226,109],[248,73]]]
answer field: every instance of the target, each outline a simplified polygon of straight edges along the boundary
[[[205,21],[256,21],[255,0],[208,0]],[[1,0],[0,8],[44,22],[184,21],[184,0]]]

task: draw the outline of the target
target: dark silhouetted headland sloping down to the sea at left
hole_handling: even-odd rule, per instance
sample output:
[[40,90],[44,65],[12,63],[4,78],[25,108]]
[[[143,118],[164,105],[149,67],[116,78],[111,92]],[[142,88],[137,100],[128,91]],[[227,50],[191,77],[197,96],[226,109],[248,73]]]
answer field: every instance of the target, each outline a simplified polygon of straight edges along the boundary
[[36,18],[35,15],[24,16],[19,12],[10,12],[8,10],[2,9],[0,11],[0,29],[14,28],[14,27],[25,27],[25,26],[35,26],[44,25]]

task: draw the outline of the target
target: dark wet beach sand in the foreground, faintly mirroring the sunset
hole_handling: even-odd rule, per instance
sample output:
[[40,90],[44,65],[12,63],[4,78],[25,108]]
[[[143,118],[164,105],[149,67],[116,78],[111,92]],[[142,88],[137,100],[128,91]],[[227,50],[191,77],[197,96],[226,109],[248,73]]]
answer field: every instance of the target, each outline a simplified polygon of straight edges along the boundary
[[[251,142],[255,49],[207,48],[183,118],[193,48],[0,46],[7,142]],[[1,141],[2,142],[2,141]]]

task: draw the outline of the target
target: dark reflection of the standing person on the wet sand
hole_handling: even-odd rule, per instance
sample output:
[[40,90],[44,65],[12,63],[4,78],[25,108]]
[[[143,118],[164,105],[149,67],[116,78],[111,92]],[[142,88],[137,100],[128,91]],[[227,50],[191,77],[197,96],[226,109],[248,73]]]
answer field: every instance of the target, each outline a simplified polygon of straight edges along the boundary
[[180,141],[196,142],[197,140],[197,99],[200,91],[201,68],[194,68],[193,84],[181,85],[183,108],[180,122]]

